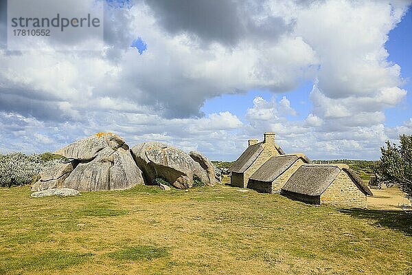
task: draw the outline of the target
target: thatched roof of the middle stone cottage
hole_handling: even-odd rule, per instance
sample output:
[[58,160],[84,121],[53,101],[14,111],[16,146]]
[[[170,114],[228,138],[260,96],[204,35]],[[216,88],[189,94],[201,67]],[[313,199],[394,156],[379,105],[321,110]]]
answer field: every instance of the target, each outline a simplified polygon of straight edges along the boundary
[[276,157],[271,157],[258,170],[256,170],[253,175],[251,175],[250,179],[272,182],[279,177],[279,175],[282,175],[284,171],[288,170],[288,168],[292,166],[297,159],[299,159],[299,157],[304,159],[307,163],[310,162],[310,159],[303,154],[279,155]]

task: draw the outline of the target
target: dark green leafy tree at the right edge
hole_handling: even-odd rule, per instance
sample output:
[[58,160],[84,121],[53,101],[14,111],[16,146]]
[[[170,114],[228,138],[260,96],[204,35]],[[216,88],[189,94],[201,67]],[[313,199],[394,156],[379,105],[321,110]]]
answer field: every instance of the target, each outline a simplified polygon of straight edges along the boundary
[[412,135],[400,135],[399,138],[399,146],[387,141],[386,148],[380,148],[382,156],[377,172],[382,180],[399,184],[412,201]]

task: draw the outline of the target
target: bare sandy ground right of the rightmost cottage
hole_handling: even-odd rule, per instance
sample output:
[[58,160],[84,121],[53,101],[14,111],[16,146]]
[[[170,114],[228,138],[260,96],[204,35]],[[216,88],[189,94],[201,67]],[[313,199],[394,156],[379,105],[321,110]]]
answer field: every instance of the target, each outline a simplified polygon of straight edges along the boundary
[[404,197],[398,187],[385,189],[371,189],[373,196],[367,198],[367,206],[371,209],[401,210],[400,206],[411,206],[410,201]]

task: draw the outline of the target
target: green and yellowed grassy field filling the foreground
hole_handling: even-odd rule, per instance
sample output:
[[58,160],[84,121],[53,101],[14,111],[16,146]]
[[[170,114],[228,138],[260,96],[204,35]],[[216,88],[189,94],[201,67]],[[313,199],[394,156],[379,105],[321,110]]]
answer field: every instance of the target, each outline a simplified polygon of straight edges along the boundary
[[216,186],[0,190],[0,274],[412,274],[412,215]]

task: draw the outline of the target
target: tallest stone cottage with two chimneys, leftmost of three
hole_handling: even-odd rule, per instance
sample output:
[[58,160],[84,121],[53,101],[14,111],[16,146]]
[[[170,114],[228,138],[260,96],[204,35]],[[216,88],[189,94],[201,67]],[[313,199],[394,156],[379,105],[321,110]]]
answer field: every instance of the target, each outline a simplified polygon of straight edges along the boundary
[[264,133],[264,141],[249,140],[249,147],[231,166],[231,186],[246,188],[249,177],[271,157],[284,155],[275,143],[275,133]]

